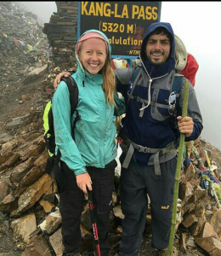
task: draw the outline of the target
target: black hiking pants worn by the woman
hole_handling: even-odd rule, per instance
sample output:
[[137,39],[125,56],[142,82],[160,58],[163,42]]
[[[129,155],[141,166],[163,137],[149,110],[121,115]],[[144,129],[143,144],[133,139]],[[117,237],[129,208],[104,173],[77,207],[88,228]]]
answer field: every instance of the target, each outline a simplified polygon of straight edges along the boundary
[[[87,167],[88,174],[92,179],[101,256],[107,256],[110,250],[108,242],[109,215],[112,207],[115,167],[116,160],[111,161],[105,168]],[[80,224],[84,194],[77,186],[74,172],[64,162],[61,162],[61,168],[66,179],[66,191],[60,195],[59,210],[62,217],[61,234],[65,247],[63,255],[66,255],[80,251],[82,244]]]

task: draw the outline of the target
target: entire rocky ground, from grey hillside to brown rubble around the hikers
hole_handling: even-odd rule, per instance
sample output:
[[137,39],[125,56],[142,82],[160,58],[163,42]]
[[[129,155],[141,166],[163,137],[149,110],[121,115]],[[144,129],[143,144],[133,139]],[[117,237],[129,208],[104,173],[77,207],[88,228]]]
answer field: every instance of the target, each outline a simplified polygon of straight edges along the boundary
[[[60,256],[59,200],[53,177],[44,172],[48,153],[42,138],[42,111],[60,68],[50,61],[48,42],[35,15],[2,2],[0,23],[3,24],[3,30],[0,29],[0,256]],[[28,49],[27,45],[36,49],[31,50],[30,46]],[[182,170],[174,244],[178,255],[218,256],[221,255],[221,212],[210,190],[207,193],[201,188],[197,170],[201,163],[206,169],[210,164],[220,179],[221,153],[203,140],[195,144],[199,155],[192,148],[193,145],[186,147],[191,164]],[[117,253],[122,237],[118,187],[119,172],[116,172],[111,255]],[[150,222],[149,207],[141,256],[156,254],[150,247]],[[93,239],[87,201],[82,214],[82,236],[82,255],[86,256],[92,249]]]

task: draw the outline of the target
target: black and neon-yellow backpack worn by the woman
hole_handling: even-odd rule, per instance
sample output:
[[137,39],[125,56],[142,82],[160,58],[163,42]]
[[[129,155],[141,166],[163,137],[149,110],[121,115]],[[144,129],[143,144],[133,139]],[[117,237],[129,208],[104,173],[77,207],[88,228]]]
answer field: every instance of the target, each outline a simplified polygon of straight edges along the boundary
[[[73,113],[77,113],[76,119],[74,120],[72,126],[72,137],[74,139],[74,128],[76,126],[77,121],[81,118],[77,111],[77,104],[78,104],[78,87],[75,79],[69,77],[67,79],[62,78],[62,81],[65,81],[65,84],[68,87],[70,93],[70,104],[71,104],[71,116]],[[52,112],[52,101],[49,101],[44,109],[43,113],[43,127],[44,127],[44,140],[46,143],[46,148],[48,149],[48,160],[45,167],[45,172],[50,174],[54,174],[54,178],[57,182],[59,194],[65,192],[65,177],[63,176],[60,166],[59,166],[59,159],[60,159],[60,151],[58,150],[57,155],[55,155],[55,134],[54,134],[54,116]],[[70,119],[71,119],[70,116]]]

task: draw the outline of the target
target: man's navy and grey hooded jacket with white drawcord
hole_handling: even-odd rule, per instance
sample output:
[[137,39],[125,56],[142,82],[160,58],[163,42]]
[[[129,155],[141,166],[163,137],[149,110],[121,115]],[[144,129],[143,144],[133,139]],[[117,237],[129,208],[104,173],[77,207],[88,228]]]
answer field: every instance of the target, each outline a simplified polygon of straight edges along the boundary
[[[150,33],[155,31],[159,26],[163,26],[167,29],[167,32],[171,34],[172,42],[167,61],[161,65],[155,66],[147,59],[144,50]],[[126,118],[122,121],[122,131],[131,142],[146,148],[165,148],[169,143],[178,142],[176,118],[169,115],[167,108],[159,107],[167,104],[170,89],[173,84],[173,77],[176,73],[174,42],[173,29],[168,23],[154,23],[150,25],[144,33],[140,50],[140,60],[142,63],[141,74],[133,90],[133,96],[135,96],[134,98],[136,98],[136,100],[127,99],[127,92],[131,87],[130,80],[134,68],[116,70],[116,89],[122,93],[126,102],[128,102]],[[180,113],[182,110],[185,80],[186,79],[183,78],[180,93]],[[139,102],[138,99],[144,99],[146,103]],[[143,110],[141,111],[141,109]],[[141,112],[143,113],[141,114]],[[189,86],[188,115],[194,120],[194,131],[190,137],[186,138],[186,141],[194,140],[199,137],[202,130],[201,112],[195,97],[195,91],[191,84]],[[170,160],[174,155],[175,153],[171,155],[160,155],[160,162]],[[134,157],[141,165],[153,164],[153,154],[142,153],[134,149]]]

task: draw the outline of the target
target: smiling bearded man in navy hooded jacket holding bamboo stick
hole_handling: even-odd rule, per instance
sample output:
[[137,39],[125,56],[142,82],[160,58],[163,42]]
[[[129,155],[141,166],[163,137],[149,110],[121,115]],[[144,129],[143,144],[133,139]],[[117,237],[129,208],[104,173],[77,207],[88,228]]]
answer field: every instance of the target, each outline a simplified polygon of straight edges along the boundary
[[[183,77],[178,107],[174,104],[171,88],[175,77],[182,76],[175,71],[174,42],[170,24],[154,23],[144,34],[139,72],[137,68],[116,69],[116,90],[127,102],[120,134],[121,202],[125,215],[120,256],[139,255],[147,194],[150,197],[152,247],[158,255],[167,255],[179,132],[185,134],[185,141],[195,140],[201,134],[201,112],[195,90]],[[189,116],[182,118],[185,80],[189,81]]]

